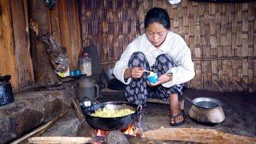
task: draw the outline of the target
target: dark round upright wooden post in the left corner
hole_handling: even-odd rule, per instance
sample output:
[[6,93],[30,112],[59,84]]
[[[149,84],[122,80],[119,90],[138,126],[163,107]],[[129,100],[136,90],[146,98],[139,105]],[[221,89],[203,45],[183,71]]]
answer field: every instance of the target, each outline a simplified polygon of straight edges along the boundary
[[[31,51],[34,65],[35,84],[47,85],[58,82],[54,68],[50,64],[48,55],[46,54],[46,45],[38,39],[38,36],[46,34],[50,31],[49,9],[43,1],[30,0],[31,22],[38,26],[38,35],[31,33]],[[56,8],[56,6],[54,6]]]

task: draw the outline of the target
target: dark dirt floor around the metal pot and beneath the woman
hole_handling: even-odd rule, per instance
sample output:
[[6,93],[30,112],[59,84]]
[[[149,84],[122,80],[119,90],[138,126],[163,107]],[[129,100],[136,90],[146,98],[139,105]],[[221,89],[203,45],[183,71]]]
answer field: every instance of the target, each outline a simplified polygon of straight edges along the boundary
[[[99,102],[126,101],[124,94],[115,90],[102,90]],[[194,127],[221,130],[229,134],[256,137],[256,94],[242,92],[210,92],[206,90],[186,90],[186,97],[210,97],[223,102],[222,109],[226,116],[224,122],[217,125],[205,125],[194,122],[188,115],[192,104],[185,99],[186,123],[179,127]],[[143,120],[143,130],[153,130],[160,127],[171,127],[169,124],[169,105],[148,102]]]

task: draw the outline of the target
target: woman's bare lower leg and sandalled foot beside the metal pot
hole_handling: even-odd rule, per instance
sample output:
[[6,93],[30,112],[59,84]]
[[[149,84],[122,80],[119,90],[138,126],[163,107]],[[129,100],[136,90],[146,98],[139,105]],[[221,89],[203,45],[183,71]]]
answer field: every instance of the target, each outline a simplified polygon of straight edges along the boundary
[[184,114],[178,103],[178,95],[170,94],[170,125],[180,126],[184,121]]

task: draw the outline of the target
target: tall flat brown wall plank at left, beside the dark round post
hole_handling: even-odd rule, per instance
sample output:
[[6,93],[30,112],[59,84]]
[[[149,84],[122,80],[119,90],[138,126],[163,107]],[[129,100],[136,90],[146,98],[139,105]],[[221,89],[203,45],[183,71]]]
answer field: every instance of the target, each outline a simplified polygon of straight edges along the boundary
[[18,73],[18,90],[34,85],[34,71],[30,57],[27,2],[10,1],[14,29],[15,60]]

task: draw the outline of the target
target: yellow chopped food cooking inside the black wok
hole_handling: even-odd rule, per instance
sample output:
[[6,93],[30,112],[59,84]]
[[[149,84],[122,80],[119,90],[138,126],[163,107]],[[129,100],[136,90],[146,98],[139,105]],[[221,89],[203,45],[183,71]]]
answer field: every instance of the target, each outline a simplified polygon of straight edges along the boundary
[[96,110],[95,113],[91,114],[91,116],[101,118],[117,118],[134,113],[135,111],[130,109],[111,110],[104,107],[103,109]]

